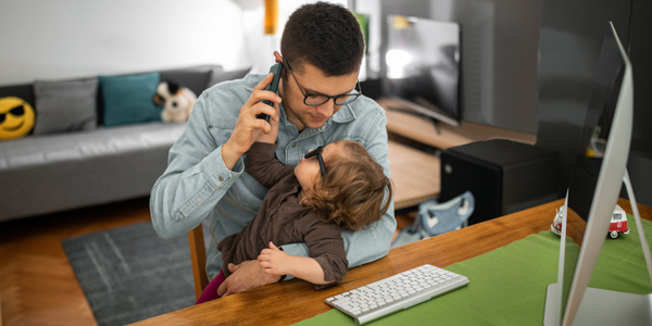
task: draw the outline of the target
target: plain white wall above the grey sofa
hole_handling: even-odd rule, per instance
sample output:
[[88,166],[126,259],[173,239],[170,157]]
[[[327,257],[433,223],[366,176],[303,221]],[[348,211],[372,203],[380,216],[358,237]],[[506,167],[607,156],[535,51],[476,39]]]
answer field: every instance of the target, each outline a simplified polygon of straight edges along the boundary
[[230,0],[2,0],[0,85],[199,64],[244,67],[251,60],[243,24]]

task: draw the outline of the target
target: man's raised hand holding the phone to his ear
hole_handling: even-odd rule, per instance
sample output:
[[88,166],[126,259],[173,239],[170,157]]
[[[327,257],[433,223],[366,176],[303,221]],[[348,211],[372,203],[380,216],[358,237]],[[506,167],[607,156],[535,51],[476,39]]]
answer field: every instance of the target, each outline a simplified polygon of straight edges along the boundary
[[[272,84],[274,74],[269,74],[253,88],[249,100],[240,108],[240,114],[238,122],[234,127],[231,136],[222,147],[222,160],[228,170],[233,170],[238,162],[238,159],[244,154],[251,147],[251,145],[259,139],[263,134],[272,133],[272,124],[276,123],[276,134],[278,134],[278,121],[279,121],[279,103],[280,97],[271,90],[265,88]],[[269,106],[263,103],[263,100],[267,100],[274,104]],[[266,114],[271,117],[267,123],[264,118],[258,118],[260,114]],[[274,136],[274,141],[276,135]],[[274,142],[272,141],[272,142]]]

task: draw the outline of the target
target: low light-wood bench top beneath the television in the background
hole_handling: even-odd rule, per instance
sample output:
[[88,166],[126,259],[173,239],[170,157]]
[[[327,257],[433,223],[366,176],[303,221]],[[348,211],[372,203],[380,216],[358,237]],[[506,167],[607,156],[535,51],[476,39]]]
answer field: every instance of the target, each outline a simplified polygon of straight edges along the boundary
[[463,121],[459,127],[440,123],[441,134],[437,134],[432,123],[421,116],[391,111],[388,108],[403,108],[400,102],[391,99],[379,99],[378,104],[385,109],[387,114],[387,130],[438,149],[465,145],[479,140],[494,138],[512,139],[516,141],[535,143],[537,135],[507,130],[487,125],[475,124]]

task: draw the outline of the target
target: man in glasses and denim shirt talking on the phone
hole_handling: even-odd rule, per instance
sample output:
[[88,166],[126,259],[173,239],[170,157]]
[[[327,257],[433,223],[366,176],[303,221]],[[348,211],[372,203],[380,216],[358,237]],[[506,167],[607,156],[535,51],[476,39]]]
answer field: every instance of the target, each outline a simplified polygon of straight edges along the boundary
[[[168,166],[152,188],[152,223],[161,238],[181,236],[210,220],[206,273],[220,273],[217,242],[240,231],[255,216],[267,189],[244,172],[243,156],[267,122],[279,121],[276,156],[297,165],[310,149],[338,139],[360,142],[383,165],[387,161],[387,118],[373,100],[360,96],[358,74],[364,39],[347,9],[324,2],[299,8],[283,33],[276,62],[284,62],[279,95],[265,91],[273,75],[248,75],[204,91],[195,104],[185,133],[170,150]],[[274,108],[261,103],[271,100]],[[239,109],[239,110],[238,110]],[[391,200],[391,199],[389,199]],[[393,204],[374,227],[342,231],[351,267],[378,260],[389,251],[396,230]],[[308,256],[305,243],[286,244],[288,254]],[[228,296],[278,276],[263,273],[258,261],[224,266],[233,274],[218,289]]]

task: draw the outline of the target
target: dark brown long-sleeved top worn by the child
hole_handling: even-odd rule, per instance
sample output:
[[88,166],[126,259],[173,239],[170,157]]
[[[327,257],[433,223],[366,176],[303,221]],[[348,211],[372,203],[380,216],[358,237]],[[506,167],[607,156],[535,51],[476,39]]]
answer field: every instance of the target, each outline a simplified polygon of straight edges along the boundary
[[305,242],[308,252],[324,269],[328,285],[342,280],[349,268],[340,228],[325,223],[310,208],[299,204],[301,190],[294,166],[286,166],[274,158],[275,143],[255,142],[248,151],[247,173],[269,189],[255,217],[241,231],[217,243],[224,261],[224,275],[230,275],[228,263],[256,260],[269,241],[276,246]]

